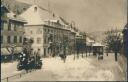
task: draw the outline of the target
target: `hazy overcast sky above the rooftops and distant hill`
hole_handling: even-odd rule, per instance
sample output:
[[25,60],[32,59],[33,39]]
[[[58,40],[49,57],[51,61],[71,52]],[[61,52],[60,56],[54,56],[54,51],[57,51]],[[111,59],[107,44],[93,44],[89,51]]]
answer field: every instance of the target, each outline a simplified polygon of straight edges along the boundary
[[[33,4],[34,0],[18,0]],[[35,0],[86,32],[123,28],[126,24],[126,0]]]

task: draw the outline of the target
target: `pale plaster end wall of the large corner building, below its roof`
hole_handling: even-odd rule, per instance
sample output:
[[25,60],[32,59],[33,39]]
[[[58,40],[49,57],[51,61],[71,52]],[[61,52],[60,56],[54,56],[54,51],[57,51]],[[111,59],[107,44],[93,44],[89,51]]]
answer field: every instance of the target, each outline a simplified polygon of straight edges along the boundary
[[[37,32],[38,30],[42,31],[41,33]],[[32,33],[31,33],[32,31]],[[40,49],[40,55],[44,55],[43,50],[43,25],[31,25],[31,26],[25,26],[25,37],[27,38],[33,38],[34,43],[32,44],[32,48],[34,51],[37,51],[38,48]],[[37,43],[37,38],[41,38],[41,43]]]

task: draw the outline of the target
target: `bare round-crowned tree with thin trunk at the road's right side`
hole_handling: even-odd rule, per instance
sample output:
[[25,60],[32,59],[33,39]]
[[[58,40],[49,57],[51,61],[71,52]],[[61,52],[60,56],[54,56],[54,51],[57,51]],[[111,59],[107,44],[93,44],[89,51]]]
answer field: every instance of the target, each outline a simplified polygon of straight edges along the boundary
[[107,51],[115,53],[115,61],[117,61],[117,54],[120,53],[122,47],[122,35],[117,29],[107,31],[105,35],[103,43],[106,44]]

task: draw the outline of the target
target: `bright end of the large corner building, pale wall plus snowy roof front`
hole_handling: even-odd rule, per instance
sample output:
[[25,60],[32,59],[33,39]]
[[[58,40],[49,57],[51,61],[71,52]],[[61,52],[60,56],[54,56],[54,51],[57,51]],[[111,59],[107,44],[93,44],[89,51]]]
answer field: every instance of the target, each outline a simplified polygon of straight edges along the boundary
[[40,49],[40,55],[43,55],[43,20],[40,15],[38,6],[33,5],[24,11],[21,15],[26,21],[25,24],[25,38],[33,40],[33,51]]

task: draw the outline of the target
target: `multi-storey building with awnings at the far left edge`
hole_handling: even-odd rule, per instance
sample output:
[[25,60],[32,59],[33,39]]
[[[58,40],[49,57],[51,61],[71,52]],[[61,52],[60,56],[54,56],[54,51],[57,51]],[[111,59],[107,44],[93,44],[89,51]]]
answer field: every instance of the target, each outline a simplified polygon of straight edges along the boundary
[[[26,22],[1,5],[1,55],[2,60],[22,51],[24,24]],[[8,56],[8,57],[7,57]]]

